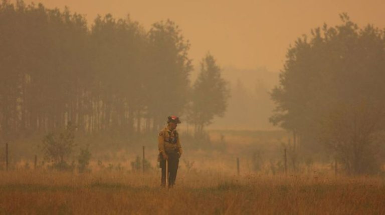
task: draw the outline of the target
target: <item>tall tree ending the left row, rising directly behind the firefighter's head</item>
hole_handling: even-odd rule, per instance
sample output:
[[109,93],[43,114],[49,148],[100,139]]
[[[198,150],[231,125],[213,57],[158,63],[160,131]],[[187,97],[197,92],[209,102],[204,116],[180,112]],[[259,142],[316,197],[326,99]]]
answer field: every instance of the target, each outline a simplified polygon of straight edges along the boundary
[[[188,58],[190,44],[170,20],[152,25],[148,32],[147,68],[152,78],[145,84],[148,114],[154,127],[164,124],[165,116],[181,115],[187,102],[188,75],[193,69]],[[147,62],[146,62],[147,63]]]

